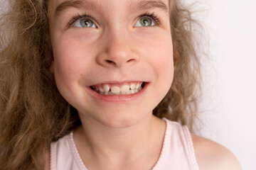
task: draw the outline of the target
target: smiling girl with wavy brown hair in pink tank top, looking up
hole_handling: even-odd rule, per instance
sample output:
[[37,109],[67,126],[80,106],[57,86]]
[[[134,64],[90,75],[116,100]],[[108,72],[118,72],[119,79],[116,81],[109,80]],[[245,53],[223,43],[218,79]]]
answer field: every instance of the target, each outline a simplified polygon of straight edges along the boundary
[[1,17],[0,169],[240,169],[190,134],[199,60],[179,0],[20,0]]

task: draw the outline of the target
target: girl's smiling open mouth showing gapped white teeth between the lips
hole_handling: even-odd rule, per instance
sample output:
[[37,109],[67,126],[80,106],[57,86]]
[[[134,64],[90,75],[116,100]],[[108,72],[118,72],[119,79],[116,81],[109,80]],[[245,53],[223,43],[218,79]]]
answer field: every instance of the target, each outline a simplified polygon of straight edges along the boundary
[[126,84],[97,84],[90,86],[90,89],[98,94],[113,96],[113,95],[128,95],[137,94],[145,86],[145,82],[132,82]]

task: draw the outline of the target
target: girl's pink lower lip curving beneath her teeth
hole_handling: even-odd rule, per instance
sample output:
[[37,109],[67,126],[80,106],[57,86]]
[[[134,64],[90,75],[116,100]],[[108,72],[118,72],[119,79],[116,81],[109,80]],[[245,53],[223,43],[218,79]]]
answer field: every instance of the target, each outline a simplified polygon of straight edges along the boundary
[[148,85],[149,83],[145,83],[143,89],[136,94],[126,94],[126,95],[102,95],[102,94],[98,94],[96,91],[93,91],[92,89],[90,89],[90,87],[87,87],[87,91],[89,92],[90,95],[92,95],[93,97],[101,101],[125,102],[125,101],[134,101],[140,98],[145,93]]

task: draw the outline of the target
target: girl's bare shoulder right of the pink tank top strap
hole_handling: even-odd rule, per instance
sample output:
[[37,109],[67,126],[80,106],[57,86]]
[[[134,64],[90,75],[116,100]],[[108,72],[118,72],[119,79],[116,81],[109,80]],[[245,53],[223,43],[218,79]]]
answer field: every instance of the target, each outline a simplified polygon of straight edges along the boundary
[[235,155],[222,145],[191,134],[199,169],[241,170]]

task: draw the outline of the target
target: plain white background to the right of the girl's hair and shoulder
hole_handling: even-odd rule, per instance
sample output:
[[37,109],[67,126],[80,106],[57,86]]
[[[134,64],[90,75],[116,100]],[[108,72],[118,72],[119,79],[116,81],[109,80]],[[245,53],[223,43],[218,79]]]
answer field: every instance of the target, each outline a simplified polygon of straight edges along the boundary
[[203,60],[201,135],[230,149],[243,169],[255,170],[256,2],[198,1],[210,40],[210,59]]

